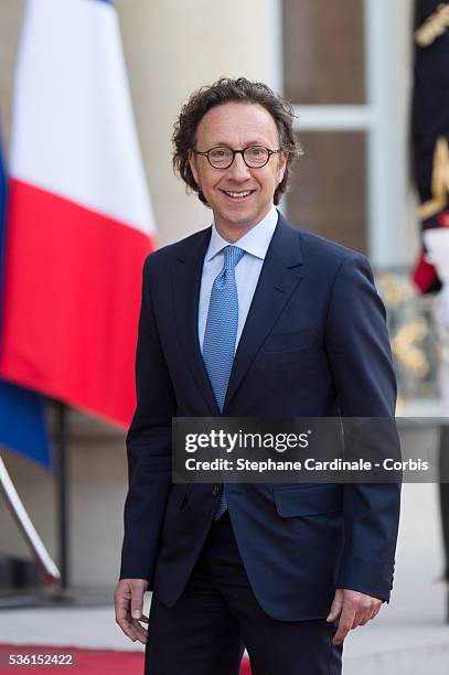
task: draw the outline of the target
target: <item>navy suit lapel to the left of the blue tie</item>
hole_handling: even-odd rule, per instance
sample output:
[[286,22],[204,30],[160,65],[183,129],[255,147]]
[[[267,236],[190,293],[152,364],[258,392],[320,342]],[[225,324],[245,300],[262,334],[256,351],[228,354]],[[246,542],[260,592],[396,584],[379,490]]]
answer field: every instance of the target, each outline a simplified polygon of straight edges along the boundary
[[211,227],[188,240],[185,251],[174,262],[172,282],[178,334],[185,363],[192,371],[210,414],[220,415],[218,407],[204,367],[197,335],[197,311],[203,260],[211,239]]

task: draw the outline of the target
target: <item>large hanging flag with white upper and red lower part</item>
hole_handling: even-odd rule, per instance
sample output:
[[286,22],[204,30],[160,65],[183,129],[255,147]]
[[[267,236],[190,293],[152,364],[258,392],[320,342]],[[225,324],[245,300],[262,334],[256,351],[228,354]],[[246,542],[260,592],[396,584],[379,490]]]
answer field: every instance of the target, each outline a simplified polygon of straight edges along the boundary
[[111,2],[28,0],[10,173],[0,377],[128,425],[154,219]]

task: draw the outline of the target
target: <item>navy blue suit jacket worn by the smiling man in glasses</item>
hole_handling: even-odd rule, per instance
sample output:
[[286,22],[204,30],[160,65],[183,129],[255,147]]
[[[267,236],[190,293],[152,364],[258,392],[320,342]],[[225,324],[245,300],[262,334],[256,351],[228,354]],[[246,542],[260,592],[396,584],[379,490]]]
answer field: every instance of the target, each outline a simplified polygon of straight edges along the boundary
[[[171,481],[172,417],[220,415],[197,339],[210,237],[207,228],[157,250],[143,270],[120,578],[148,579],[168,606],[183,591],[218,499],[212,485]],[[223,415],[394,417],[395,395],[366,258],[279,215]],[[228,507],[252,588],[272,618],[323,618],[335,588],[388,600],[396,484],[233,484]]]

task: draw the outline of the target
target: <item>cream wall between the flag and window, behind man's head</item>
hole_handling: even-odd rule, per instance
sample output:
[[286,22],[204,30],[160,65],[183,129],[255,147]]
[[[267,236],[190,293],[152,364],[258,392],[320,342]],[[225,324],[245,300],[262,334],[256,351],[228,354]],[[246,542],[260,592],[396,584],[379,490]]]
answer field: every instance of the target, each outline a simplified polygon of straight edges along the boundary
[[[218,77],[272,77],[272,2],[118,0],[131,93],[160,245],[205,227],[211,215],[171,168],[171,133],[189,95]],[[249,41],[250,47],[247,46]],[[272,46],[272,43],[271,43]]]

